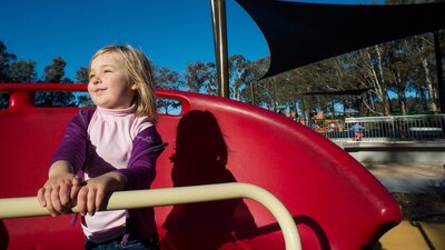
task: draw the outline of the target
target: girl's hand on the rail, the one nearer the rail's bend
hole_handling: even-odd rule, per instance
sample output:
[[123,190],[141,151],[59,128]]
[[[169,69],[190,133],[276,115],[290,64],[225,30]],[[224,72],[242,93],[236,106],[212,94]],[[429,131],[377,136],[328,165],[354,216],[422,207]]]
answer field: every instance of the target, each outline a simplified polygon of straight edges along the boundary
[[89,179],[77,196],[79,213],[93,216],[96,211],[105,209],[103,206],[109,196],[115,191],[123,190],[125,186],[125,177],[117,171]]

